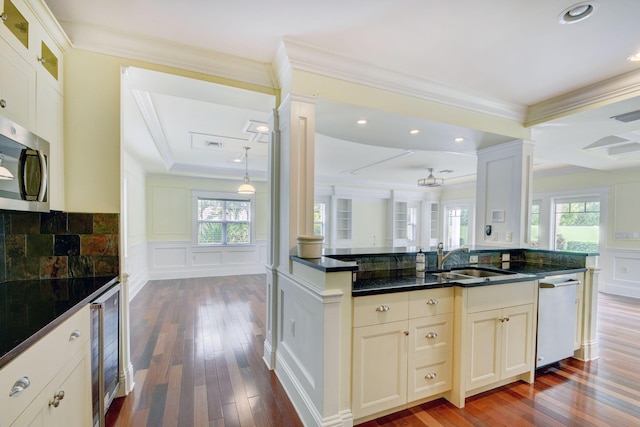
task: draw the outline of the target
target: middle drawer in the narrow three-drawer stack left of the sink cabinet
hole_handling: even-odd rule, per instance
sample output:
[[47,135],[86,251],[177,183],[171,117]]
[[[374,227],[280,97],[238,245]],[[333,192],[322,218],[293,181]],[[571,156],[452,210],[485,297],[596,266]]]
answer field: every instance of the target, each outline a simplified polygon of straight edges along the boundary
[[409,321],[409,360],[450,353],[453,338],[453,313]]

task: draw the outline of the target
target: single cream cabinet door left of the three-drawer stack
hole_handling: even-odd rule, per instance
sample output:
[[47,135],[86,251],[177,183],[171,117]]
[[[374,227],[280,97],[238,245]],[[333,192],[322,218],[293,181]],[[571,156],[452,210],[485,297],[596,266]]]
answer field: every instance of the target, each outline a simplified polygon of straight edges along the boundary
[[352,409],[355,418],[407,401],[406,321],[353,330]]

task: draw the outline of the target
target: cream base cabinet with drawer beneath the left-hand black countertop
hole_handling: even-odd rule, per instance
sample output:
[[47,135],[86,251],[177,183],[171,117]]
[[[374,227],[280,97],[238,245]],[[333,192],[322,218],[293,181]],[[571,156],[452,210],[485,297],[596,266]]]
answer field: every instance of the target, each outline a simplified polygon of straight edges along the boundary
[[0,426],[91,425],[90,355],[86,306],[0,370]]

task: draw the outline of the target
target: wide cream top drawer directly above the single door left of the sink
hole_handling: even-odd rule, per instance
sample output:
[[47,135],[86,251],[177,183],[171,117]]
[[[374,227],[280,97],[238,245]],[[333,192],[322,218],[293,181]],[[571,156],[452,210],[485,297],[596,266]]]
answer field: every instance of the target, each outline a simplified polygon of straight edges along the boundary
[[406,292],[357,297],[353,301],[353,326],[406,320],[408,312],[409,297]]

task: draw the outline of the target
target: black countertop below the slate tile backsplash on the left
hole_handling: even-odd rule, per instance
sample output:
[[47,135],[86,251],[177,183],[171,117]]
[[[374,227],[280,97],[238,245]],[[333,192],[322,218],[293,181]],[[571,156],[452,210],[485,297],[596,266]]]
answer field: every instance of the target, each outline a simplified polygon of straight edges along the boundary
[[0,283],[0,368],[117,280],[105,276]]

